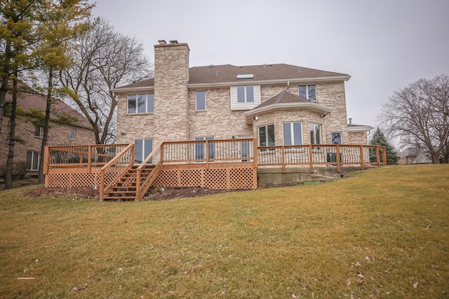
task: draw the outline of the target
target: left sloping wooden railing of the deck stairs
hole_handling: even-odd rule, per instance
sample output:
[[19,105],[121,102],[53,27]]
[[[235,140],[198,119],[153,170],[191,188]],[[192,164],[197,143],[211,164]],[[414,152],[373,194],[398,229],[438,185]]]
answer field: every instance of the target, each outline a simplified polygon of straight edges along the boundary
[[[105,191],[120,179],[120,177],[127,171],[130,165],[134,163],[134,144],[129,144],[123,151],[118,153],[107,164],[100,169],[100,201],[102,200]],[[113,174],[112,179],[107,186],[105,186],[105,176]]]

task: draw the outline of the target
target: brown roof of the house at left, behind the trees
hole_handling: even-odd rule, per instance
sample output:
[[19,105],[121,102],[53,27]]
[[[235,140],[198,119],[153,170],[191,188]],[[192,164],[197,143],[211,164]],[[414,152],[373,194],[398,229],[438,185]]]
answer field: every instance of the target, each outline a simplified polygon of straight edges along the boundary
[[[6,102],[11,102],[11,94],[6,95]],[[38,111],[42,111],[45,113],[46,110],[46,98],[42,95],[36,95],[28,92],[20,92],[17,99],[17,105],[18,107],[21,107],[22,109],[29,110],[29,109],[36,109]],[[51,110],[50,118],[56,119],[58,116],[56,114],[65,113],[69,116],[73,116],[74,118],[78,119],[78,122],[74,123],[73,125],[81,126],[81,127],[87,127],[89,129],[92,129],[91,123],[81,115],[78,111],[74,110],[69,105],[65,104],[65,102],[62,102],[61,100],[55,100],[53,104],[51,104]]]

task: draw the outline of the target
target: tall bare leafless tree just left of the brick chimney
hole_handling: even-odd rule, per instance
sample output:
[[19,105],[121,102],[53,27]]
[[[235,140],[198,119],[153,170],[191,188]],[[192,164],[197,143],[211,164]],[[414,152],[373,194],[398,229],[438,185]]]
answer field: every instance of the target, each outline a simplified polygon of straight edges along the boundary
[[113,142],[117,99],[111,89],[152,76],[144,47],[97,18],[73,50],[75,63],[62,71],[61,83],[91,123],[95,143]]

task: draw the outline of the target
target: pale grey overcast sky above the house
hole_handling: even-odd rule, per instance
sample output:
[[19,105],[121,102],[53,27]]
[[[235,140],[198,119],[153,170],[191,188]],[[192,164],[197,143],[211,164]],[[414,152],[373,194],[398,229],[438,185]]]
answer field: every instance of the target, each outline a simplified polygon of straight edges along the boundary
[[[92,1],[93,2],[93,1]],[[145,44],[188,43],[190,67],[276,64],[349,74],[348,118],[380,125],[394,90],[449,75],[448,0],[97,0],[93,10]]]

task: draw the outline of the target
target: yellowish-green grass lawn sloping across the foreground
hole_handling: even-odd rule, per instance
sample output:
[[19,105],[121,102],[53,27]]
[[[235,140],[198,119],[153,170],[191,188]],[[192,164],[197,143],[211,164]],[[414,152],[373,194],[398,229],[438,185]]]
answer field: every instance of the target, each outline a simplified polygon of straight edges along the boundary
[[0,191],[0,298],[449,298],[449,165],[152,202],[31,188]]

